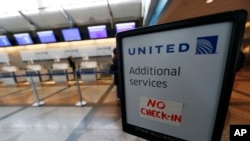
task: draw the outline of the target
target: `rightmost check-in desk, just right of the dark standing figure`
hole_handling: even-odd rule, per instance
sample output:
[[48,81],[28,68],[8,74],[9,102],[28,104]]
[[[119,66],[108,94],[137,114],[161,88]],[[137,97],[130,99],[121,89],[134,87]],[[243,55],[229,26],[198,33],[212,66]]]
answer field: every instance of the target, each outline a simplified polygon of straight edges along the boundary
[[85,61],[80,64],[81,78],[83,82],[96,82],[97,81],[97,62]]

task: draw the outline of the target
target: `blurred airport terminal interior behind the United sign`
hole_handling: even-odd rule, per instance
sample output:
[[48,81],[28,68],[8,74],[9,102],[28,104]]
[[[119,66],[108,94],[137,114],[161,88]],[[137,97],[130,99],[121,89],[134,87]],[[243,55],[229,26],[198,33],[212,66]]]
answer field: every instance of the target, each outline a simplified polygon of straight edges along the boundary
[[117,24],[122,32],[237,9],[249,12],[245,58],[221,141],[229,141],[230,125],[250,125],[248,0],[8,1],[0,6],[0,141],[146,141],[122,129],[110,72]]

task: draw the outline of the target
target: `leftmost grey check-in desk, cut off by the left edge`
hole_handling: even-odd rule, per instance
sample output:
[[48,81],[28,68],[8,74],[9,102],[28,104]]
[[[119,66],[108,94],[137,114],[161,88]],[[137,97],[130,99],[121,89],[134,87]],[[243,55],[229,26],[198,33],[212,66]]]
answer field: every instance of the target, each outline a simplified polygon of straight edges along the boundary
[[13,72],[1,71],[0,79],[4,86],[16,85],[16,80]]

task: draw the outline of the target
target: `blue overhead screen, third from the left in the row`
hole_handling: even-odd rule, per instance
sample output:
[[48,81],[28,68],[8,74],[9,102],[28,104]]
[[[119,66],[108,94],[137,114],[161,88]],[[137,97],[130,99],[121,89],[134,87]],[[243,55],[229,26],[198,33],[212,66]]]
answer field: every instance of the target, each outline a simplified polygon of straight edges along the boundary
[[55,35],[52,30],[39,31],[37,32],[39,40],[41,43],[53,43],[56,42]]

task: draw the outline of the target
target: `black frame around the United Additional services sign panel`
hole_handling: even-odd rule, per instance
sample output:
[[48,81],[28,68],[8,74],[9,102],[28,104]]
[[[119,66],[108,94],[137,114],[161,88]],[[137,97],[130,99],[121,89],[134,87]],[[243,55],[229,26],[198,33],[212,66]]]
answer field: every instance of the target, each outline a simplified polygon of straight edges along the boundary
[[[195,27],[200,25],[209,25],[215,23],[230,22],[232,23],[230,41],[228,53],[226,56],[225,69],[223,70],[223,80],[220,89],[218,107],[216,111],[215,121],[213,122],[213,131],[211,134],[211,140],[220,141],[221,135],[224,128],[224,122],[227,115],[227,110],[230,102],[231,92],[233,88],[234,77],[236,74],[236,63],[237,57],[240,52],[241,42],[243,39],[245,22],[247,18],[247,12],[245,10],[235,10],[223,13],[217,13],[197,18],[191,18],[166,24],[154,25],[149,27],[137,28],[131,31],[125,31],[117,33],[116,43],[117,43],[117,57],[118,57],[118,67],[119,67],[119,93],[121,94],[121,113],[122,113],[122,127],[123,131],[129,134],[136,135],[148,140],[158,140],[158,141],[168,141],[174,140],[187,140],[181,139],[172,135],[165,135],[159,132],[155,132],[144,127],[139,127],[136,125],[129,124],[127,122],[126,105],[126,89],[125,89],[125,72],[124,72],[124,52],[123,52],[123,40],[127,37],[136,37],[139,35],[157,33],[162,31],[169,31],[175,29],[183,29],[188,27]],[[199,106],[199,105],[197,105]],[[192,130],[192,129],[190,129]],[[154,135],[148,134],[149,132],[155,133]],[[210,135],[210,134],[209,134]],[[163,137],[166,138],[163,138]]]

